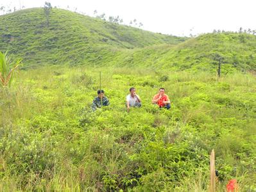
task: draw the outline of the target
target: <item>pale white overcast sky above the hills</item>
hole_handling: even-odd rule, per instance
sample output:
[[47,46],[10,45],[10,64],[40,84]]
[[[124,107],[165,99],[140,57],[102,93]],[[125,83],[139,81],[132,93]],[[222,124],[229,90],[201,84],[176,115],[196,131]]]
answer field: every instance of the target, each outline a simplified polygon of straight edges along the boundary
[[45,1],[53,7],[77,8],[76,12],[90,16],[94,10],[98,15],[119,15],[126,24],[137,19],[142,22],[142,29],[168,35],[256,29],[256,0],[0,0],[0,6],[42,7]]

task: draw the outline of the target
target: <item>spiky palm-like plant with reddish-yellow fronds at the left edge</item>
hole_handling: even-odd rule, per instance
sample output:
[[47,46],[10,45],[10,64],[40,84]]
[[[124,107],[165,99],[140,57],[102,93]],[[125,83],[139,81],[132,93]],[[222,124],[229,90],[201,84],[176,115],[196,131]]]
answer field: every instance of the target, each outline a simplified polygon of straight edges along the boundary
[[13,72],[19,67],[21,60],[12,61],[12,57],[0,52],[0,82],[3,86],[10,86]]

